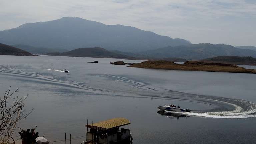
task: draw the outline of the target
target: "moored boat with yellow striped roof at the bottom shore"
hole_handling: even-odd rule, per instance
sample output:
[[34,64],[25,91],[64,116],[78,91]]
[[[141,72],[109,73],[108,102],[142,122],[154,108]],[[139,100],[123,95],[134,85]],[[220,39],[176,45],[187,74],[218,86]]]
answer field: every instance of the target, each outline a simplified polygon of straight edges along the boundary
[[130,121],[113,118],[86,125],[86,141],[97,144],[130,143]]

